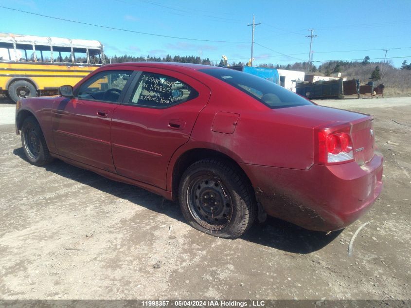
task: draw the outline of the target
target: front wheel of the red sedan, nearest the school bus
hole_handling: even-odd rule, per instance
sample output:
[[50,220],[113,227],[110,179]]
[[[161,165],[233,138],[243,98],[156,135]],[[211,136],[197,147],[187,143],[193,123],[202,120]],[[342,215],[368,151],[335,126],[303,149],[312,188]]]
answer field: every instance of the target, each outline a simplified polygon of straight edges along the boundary
[[23,121],[21,144],[23,145],[24,154],[30,163],[42,166],[53,160],[40,125],[33,116],[29,116]]

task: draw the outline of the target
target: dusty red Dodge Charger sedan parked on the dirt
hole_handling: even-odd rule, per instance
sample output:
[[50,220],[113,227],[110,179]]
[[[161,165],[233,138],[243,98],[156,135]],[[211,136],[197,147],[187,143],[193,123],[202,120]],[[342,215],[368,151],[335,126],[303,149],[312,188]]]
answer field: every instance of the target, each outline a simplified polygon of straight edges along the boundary
[[374,118],[254,75],[179,63],[104,66],[16,107],[27,159],[53,158],[179,200],[194,228],[236,238],[268,215],[332,231],[382,188]]

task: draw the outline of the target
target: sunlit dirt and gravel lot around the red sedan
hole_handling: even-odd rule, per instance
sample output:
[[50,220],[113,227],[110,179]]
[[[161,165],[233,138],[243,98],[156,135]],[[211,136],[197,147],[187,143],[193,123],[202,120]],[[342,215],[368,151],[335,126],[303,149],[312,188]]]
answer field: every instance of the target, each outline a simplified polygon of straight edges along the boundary
[[270,218],[225,240],[143,189],[60,161],[29,164],[3,101],[0,298],[410,299],[411,99],[318,103],[375,114],[380,199],[329,235]]

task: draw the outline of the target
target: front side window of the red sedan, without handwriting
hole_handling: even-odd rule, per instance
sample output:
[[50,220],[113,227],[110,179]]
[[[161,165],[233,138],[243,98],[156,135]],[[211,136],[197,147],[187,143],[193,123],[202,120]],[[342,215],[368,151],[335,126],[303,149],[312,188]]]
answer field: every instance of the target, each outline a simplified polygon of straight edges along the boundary
[[132,71],[100,72],[80,86],[76,97],[115,103],[131,74]]

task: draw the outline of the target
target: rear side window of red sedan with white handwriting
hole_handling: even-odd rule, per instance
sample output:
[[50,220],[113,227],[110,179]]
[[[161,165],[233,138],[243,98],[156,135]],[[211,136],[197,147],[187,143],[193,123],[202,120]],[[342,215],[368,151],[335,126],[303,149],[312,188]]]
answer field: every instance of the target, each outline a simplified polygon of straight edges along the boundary
[[197,96],[196,90],[174,77],[143,72],[131,95],[129,104],[167,108]]

